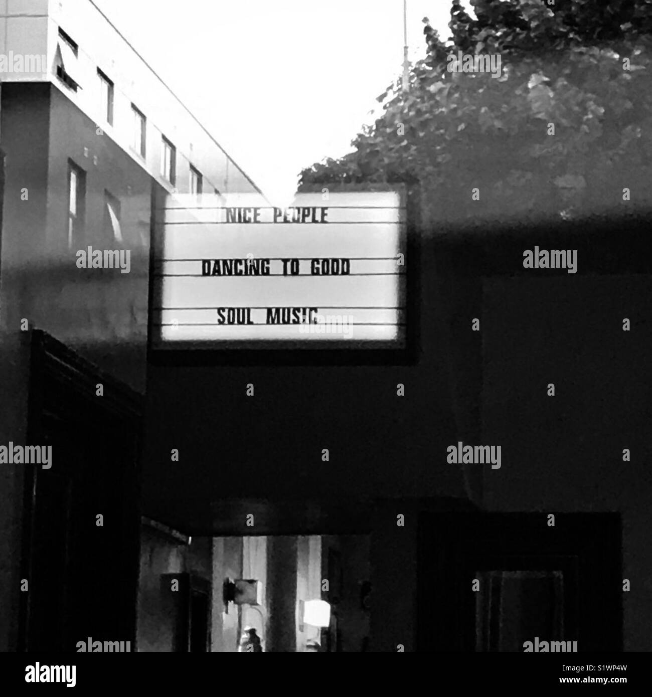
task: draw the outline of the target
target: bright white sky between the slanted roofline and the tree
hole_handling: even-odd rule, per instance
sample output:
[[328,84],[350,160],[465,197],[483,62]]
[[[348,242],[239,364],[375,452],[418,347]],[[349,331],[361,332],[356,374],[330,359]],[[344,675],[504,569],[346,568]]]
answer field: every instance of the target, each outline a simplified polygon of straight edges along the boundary
[[[95,1],[274,200],[291,198],[303,167],[351,151],[402,70],[402,0]],[[450,0],[407,11],[415,61],[423,17],[448,38]]]

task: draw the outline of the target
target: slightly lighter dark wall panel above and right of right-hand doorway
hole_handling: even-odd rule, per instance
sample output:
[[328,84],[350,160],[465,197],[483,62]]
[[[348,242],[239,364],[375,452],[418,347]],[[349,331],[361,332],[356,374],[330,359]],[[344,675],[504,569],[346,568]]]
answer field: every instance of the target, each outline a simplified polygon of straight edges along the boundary
[[487,507],[621,512],[623,648],[650,651],[652,281],[488,279],[484,298],[483,442],[503,453],[484,470]]

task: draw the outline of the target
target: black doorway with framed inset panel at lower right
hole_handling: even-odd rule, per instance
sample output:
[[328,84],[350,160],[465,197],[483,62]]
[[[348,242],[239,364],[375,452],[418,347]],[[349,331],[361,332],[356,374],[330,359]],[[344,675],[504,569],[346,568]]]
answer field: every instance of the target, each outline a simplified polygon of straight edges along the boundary
[[423,514],[417,650],[622,651],[621,539],[618,513]]

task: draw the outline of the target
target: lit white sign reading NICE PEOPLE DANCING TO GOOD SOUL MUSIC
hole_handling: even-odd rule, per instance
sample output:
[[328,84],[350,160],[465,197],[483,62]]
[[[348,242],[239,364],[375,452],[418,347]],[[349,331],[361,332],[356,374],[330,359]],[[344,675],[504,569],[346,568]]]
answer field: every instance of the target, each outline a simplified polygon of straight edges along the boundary
[[158,211],[153,348],[403,348],[397,192],[170,194]]

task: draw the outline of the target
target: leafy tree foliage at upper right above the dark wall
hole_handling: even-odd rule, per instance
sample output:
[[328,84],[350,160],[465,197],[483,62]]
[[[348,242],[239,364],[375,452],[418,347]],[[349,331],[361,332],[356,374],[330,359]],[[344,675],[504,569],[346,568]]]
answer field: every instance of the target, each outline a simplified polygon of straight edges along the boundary
[[[446,43],[424,18],[409,89],[389,86],[353,151],[304,169],[300,188],[418,185],[439,220],[649,206],[652,0],[471,5],[476,19],[453,0]],[[500,77],[449,71],[460,51],[499,56]]]

